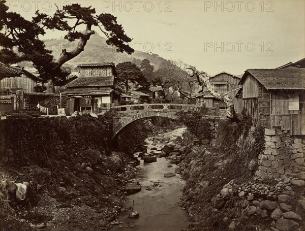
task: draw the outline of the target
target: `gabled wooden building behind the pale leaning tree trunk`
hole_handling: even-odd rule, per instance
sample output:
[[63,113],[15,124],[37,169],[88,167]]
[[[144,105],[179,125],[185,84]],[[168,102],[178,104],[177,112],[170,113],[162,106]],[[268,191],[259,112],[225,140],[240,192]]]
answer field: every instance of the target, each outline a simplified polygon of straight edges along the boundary
[[[221,72],[210,78],[210,82],[216,91],[224,94],[229,92],[228,95],[233,99],[236,113],[241,113],[242,111],[242,101],[239,98],[235,98],[237,90],[233,91],[241,87],[241,85],[238,84],[239,81],[239,76],[227,72]],[[226,104],[212,96],[205,86],[199,91],[199,94],[195,95],[193,98],[195,98],[195,104],[198,105],[205,103],[206,107],[216,107],[216,104],[219,104],[220,109],[226,108]]]

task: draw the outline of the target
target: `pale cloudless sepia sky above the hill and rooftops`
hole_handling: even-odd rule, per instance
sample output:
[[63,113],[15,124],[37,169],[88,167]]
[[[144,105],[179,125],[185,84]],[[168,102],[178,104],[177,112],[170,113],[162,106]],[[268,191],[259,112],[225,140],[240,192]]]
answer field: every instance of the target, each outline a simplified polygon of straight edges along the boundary
[[[7,1],[31,19],[73,1]],[[135,50],[181,60],[210,75],[277,68],[305,57],[305,1],[78,1],[117,17]],[[99,28],[95,30],[101,35]],[[42,39],[64,36],[48,31]],[[109,60],[111,61],[111,60]]]

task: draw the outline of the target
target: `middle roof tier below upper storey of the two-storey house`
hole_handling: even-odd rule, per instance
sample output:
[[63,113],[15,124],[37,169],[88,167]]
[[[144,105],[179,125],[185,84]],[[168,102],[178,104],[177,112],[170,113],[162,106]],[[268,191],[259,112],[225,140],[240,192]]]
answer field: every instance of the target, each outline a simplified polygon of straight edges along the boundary
[[114,82],[113,76],[99,77],[79,77],[68,83],[67,87],[93,87],[93,86],[112,86]]

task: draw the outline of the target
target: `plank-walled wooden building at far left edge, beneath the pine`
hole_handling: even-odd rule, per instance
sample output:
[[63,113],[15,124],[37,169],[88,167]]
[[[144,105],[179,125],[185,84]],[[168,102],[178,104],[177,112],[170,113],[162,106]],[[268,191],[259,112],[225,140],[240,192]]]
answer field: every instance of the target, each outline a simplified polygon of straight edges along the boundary
[[[0,65],[4,67],[3,63]],[[7,67],[9,67],[11,70],[15,70],[16,73],[21,73],[21,75],[4,77],[0,82],[2,92],[16,92],[16,90],[23,90],[24,92],[36,92],[37,81],[39,81],[37,76],[26,69],[11,66]]]

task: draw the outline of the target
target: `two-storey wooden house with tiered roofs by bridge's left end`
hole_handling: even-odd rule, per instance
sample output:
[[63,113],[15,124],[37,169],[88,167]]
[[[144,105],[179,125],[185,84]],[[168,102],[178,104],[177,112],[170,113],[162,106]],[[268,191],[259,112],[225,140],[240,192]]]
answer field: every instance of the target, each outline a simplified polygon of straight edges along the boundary
[[113,62],[78,65],[80,77],[67,84],[67,108],[74,111],[99,112],[99,108],[119,105],[117,74]]

